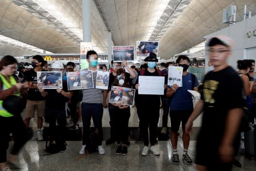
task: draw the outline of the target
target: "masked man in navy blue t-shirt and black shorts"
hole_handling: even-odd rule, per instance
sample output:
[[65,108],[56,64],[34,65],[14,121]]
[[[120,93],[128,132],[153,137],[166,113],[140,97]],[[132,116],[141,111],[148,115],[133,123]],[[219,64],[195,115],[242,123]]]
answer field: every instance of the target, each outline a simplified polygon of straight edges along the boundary
[[190,60],[186,55],[180,55],[177,60],[177,66],[183,67],[182,73],[182,87],[177,84],[172,85],[167,88],[166,96],[172,97],[171,100],[171,143],[172,143],[172,163],[179,164],[179,155],[177,153],[177,136],[180,127],[180,122],[182,123],[182,140],[183,140],[183,160],[187,164],[192,164],[192,160],[188,155],[188,146],[190,136],[185,132],[185,123],[187,123],[189,116],[193,112],[193,101],[191,93],[188,90],[198,91],[197,86],[199,83],[195,75],[188,72],[188,67],[190,65]]

